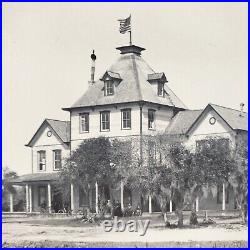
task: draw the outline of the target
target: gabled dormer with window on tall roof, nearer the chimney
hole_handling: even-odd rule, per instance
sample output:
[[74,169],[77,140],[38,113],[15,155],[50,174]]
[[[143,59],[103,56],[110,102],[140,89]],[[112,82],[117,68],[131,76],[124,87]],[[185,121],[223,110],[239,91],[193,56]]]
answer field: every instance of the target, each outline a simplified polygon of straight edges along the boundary
[[122,79],[119,73],[106,71],[100,80],[104,83],[104,96],[111,96],[115,94],[115,87],[121,82]]

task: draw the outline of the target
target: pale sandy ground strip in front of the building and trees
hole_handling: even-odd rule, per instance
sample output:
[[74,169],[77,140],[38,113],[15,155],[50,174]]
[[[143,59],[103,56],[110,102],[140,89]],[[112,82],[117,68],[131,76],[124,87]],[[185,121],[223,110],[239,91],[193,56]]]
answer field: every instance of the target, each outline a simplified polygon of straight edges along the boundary
[[[47,219],[48,220],[48,219]],[[62,220],[62,219],[61,219]],[[188,242],[188,241],[247,241],[246,225],[235,219],[220,221],[215,225],[199,228],[165,229],[161,224],[151,225],[144,236],[138,232],[105,232],[103,226],[79,224],[71,226],[41,223],[41,219],[18,218],[4,219],[2,224],[2,242],[18,241],[68,241],[68,242]],[[65,221],[66,220],[66,221]],[[52,221],[52,220],[51,220]],[[68,222],[70,220],[68,219]],[[68,225],[67,225],[68,224]]]

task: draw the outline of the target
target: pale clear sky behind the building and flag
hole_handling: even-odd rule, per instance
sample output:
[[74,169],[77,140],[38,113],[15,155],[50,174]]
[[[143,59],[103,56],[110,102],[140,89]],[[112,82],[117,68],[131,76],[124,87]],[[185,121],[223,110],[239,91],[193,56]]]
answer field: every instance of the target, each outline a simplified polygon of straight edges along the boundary
[[31,173],[29,142],[45,118],[69,120],[87,89],[128,45],[120,18],[132,16],[133,44],[165,72],[190,109],[208,103],[248,110],[247,3],[3,3],[3,167]]

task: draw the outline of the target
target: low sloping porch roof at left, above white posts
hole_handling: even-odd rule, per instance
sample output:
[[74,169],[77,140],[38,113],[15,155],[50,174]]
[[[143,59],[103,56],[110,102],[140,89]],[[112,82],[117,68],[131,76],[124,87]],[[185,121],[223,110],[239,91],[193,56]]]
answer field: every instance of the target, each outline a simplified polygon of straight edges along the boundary
[[17,178],[11,179],[10,183],[24,185],[30,182],[51,182],[59,179],[59,173],[35,173],[21,175]]

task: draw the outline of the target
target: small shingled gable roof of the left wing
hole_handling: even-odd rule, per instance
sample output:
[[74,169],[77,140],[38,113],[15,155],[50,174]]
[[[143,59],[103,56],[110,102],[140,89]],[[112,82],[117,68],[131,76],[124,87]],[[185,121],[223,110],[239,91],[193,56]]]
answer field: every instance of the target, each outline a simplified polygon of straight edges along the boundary
[[34,141],[36,140],[37,136],[39,135],[39,132],[41,129],[48,125],[55,134],[59,137],[59,139],[63,143],[69,143],[70,142],[70,121],[59,121],[54,119],[45,119],[43,123],[40,125],[34,136],[31,138],[29,143],[27,143],[25,146],[32,147]]

